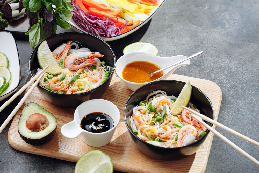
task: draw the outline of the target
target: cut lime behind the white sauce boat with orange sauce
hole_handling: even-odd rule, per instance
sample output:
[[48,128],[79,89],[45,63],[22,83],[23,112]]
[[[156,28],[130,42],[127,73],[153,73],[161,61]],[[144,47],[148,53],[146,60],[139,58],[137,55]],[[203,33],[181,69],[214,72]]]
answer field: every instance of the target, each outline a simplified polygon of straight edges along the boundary
[[129,53],[129,52],[135,52],[135,51],[147,52],[153,55],[158,54],[158,50],[153,44],[144,43],[144,42],[136,42],[136,43],[127,45],[123,50],[123,54]]

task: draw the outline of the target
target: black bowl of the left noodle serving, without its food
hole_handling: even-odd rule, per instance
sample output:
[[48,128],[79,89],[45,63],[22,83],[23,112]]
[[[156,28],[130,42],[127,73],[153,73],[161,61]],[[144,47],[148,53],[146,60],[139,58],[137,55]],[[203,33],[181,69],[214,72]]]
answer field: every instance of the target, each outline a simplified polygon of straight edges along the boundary
[[[51,51],[54,51],[58,46],[68,42],[69,40],[78,41],[82,44],[83,47],[87,47],[91,51],[104,54],[104,57],[100,57],[100,60],[105,61],[106,65],[110,66],[110,75],[102,85],[90,91],[77,94],[61,94],[49,91],[48,89],[42,87],[40,84],[37,85],[40,93],[49,102],[61,107],[77,107],[87,100],[99,99],[109,87],[116,65],[116,58],[112,48],[105,41],[91,34],[82,32],[65,32],[46,39]],[[37,69],[40,68],[37,57],[38,47],[39,45],[32,52],[29,61],[29,70],[32,77],[35,76]]]

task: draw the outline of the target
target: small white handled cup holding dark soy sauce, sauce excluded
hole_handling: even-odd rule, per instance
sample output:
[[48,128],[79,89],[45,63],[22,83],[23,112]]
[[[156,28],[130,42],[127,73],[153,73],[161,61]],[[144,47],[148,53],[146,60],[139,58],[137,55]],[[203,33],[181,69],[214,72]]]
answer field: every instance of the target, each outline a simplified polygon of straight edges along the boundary
[[[113,128],[101,133],[92,133],[82,129],[80,124],[83,117],[94,112],[101,112],[109,115],[114,123]],[[102,147],[110,143],[119,121],[119,109],[112,102],[103,99],[88,100],[76,108],[74,120],[62,126],[61,133],[68,139],[74,139],[81,134],[83,141],[87,145],[92,147]]]

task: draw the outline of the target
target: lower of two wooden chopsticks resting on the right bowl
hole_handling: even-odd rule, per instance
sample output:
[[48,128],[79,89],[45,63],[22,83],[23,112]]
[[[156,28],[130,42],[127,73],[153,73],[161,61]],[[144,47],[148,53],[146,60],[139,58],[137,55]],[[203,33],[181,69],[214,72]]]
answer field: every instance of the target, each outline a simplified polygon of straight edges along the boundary
[[[251,155],[249,155],[248,153],[246,153],[244,150],[242,150],[241,148],[239,148],[238,146],[236,146],[236,144],[234,144],[233,142],[231,142],[230,140],[228,140],[225,136],[221,135],[217,130],[213,129],[212,127],[210,127],[208,124],[206,124],[205,122],[203,122],[202,120],[198,119],[195,115],[199,115],[198,112],[193,111],[192,109],[189,109],[185,106],[182,106],[184,109],[188,110],[189,112],[191,112],[192,114],[190,114],[193,118],[195,118],[199,123],[201,123],[203,126],[205,126],[208,130],[210,130],[212,133],[214,133],[216,136],[218,136],[220,139],[222,139],[224,142],[226,142],[227,144],[229,144],[231,147],[233,147],[235,150],[237,150],[239,153],[241,153],[242,155],[246,156],[250,161],[254,162],[256,165],[259,166],[259,161],[257,161],[254,157],[252,157]],[[193,115],[194,114],[194,115]],[[207,121],[207,120],[206,120]],[[215,124],[216,125],[216,124]],[[233,130],[234,131],[234,130]]]

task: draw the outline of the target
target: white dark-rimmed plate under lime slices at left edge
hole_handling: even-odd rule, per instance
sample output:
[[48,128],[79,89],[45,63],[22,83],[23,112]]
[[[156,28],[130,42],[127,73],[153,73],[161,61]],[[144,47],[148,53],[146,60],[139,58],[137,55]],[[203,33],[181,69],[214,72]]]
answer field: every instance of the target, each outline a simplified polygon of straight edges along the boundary
[[0,32],[0,52],[4,53],[9,61],[9,67],[12,77],[9,87],[0,96],[0,101],[11,95],[19,87],[21,79],[20,60],[15,38],[10,32]]

